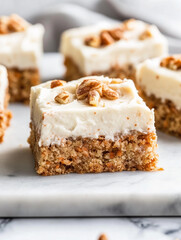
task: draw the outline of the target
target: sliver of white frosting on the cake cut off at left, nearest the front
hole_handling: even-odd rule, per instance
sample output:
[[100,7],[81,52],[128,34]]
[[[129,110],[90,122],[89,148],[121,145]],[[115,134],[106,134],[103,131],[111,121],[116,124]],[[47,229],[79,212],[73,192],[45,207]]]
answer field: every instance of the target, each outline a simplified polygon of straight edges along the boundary
[[0,111],[4,109],[4,100],[8,87],[7,70],[0,65]]

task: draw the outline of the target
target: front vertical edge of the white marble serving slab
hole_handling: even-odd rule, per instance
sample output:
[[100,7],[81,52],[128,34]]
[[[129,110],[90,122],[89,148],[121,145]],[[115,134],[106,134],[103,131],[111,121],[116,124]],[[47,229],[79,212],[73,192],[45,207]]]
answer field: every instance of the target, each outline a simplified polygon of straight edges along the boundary
[[116,194],[0,197],[1,217],[179,216],[181,196]]

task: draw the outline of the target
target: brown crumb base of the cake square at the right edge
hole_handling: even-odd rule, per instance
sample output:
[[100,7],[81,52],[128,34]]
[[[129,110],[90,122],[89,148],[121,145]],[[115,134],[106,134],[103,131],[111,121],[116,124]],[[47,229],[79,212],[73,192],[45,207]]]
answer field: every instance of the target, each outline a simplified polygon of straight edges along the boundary
[[171,135],[181,137],[181,110],[170,101],[162,101],[154,95],[147,96],[139,91],[149,108],[154,108],[156,128]]

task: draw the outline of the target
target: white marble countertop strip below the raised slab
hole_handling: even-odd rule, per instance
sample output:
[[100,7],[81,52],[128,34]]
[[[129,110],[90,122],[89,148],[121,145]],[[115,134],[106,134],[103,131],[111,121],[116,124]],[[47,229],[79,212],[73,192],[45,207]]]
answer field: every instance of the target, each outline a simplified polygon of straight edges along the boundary
[[180,218],[0,219],[1,240],[179,240]]

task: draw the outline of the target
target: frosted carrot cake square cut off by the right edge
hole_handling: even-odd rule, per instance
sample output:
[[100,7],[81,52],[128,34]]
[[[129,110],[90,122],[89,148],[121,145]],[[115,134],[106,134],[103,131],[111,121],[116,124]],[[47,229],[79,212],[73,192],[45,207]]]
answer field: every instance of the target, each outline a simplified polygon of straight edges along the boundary
[[155,109],[156,127],[181,137],[181,55],[146,60],[136,75],[141,96]]

